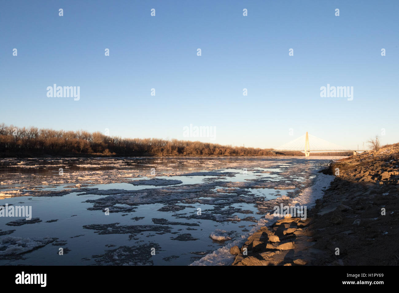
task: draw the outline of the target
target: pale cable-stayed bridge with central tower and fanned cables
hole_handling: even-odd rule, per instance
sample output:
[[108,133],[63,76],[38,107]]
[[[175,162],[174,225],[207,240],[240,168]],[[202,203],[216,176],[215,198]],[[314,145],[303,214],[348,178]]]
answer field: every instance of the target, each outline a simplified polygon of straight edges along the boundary
[[[328,142],[316,136],[306,134],[277,147],[273,151],[304,151],[306,157],[310,155],[310,150],[312,151],[355,151],[354,149],[347,149],[345,147],[339,146],[332,142]],[[365,150],[357,150],[365,151]],[[354,153],[355,154],[355,153]]]

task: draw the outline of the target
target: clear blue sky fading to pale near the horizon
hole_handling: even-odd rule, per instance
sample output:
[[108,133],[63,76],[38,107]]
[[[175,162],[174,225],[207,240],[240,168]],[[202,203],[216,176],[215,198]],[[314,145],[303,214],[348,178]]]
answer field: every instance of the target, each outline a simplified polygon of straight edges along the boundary
[[[4,1],[0,123],[253,147],[308,131],[357,148],[384,128],[399,142],[398,15],[398,1]],[[47,97],[54,83],[80,100]],[[328,83],[353,100],[321,98]],[[215,140],[185,138],[190,124]]]

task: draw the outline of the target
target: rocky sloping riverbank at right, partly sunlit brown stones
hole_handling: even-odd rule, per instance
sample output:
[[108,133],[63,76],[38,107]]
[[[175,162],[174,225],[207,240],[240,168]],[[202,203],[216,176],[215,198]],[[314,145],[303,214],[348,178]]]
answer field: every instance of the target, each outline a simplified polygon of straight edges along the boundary
[[308,217],[264,226],[230,253],[232,265],[398,265],[399,144],[336,161]]

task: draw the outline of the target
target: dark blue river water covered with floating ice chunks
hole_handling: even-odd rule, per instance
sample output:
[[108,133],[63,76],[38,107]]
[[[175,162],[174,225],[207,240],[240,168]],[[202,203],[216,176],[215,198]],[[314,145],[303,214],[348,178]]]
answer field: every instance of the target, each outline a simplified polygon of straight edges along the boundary
[[1,159],[0,265],[229,265],[273,206],[322,195],[330,159]]

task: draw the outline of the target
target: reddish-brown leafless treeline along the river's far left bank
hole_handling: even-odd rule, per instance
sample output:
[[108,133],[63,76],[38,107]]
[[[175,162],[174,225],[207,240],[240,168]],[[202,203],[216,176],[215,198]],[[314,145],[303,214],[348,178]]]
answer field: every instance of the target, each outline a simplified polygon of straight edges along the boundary
[[0,154],[115,156],[268,156],[272,149],[221,146],[205,142],[120,138],[101,132],[19,128],[0,124]]

